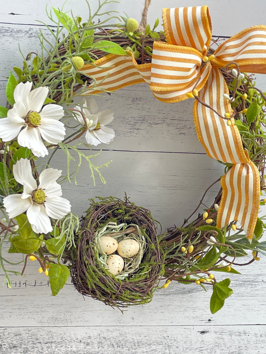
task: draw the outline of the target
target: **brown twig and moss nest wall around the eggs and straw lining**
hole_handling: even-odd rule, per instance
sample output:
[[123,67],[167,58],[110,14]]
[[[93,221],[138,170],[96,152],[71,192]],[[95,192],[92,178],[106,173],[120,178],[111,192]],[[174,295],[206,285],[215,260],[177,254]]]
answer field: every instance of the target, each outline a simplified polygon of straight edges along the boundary
[[[145,238],[145,252],[135,272],[124,279],[112,275],[99,259],[97,233],[110,223],[134,224]],[[82,218],[72,254],[71,275],[75,288],[82,294],[103,301],[106,305],[126,307],[150,302],[163,273],[164,252],[157,237],[158,224],[150,211],[135,206],[127,197],[91,200]],[[126,236],[128,237],[128,236]]]

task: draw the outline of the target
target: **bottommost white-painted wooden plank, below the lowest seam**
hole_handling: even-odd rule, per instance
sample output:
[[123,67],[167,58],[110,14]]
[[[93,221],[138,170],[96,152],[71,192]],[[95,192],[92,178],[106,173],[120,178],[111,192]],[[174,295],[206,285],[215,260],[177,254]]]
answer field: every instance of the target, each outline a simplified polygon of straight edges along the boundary
[[[52,321],[52,320],[51,320]],[[2,328],[2,354],[265,353],[266,326],[134,326]]]

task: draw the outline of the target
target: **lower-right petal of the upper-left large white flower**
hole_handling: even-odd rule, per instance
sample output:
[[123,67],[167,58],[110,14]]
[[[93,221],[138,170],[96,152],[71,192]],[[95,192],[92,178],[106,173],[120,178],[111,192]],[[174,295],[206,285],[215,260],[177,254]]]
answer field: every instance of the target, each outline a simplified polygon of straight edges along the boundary
[[38,125],[37,129],[42,138],[51,144],[57,144],[57,142],[62,141],[65,136],[64,123],[56,119],[41,119],[41,123]]

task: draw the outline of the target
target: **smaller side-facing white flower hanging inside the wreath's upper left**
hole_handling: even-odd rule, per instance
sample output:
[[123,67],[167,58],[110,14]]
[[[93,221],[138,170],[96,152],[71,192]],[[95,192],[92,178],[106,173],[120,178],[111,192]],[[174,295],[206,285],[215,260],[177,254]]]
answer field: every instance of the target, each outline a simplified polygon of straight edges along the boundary
[[[114,130],[105,126],[114,119],[112,111],[104,110],[98,112],[98,106],[91,96],[86,97],[82,108],[76,106],[75,110],[82,111],[85,116],[87,126],[85,138],[88,144],[94,146],[97,146],[101,142],[109,144],[114,139]],[[75,118],[80,124],[85,125],[80,113],[75,112]]]

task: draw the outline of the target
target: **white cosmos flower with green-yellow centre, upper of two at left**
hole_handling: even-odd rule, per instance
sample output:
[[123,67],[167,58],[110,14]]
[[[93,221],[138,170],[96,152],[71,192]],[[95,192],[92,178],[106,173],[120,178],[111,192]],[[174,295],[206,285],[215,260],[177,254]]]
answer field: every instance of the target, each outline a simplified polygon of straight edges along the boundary
[[45,156],[48,150],[42,139],[51,144],[62,141],[65,135],[64,124],[59,121],[64,111],[58,105],[43,103],[48,95],[48,87],[38,87],[32,91],[32,82],[19,83],[14,90],[15,104],[0,119],[0,138],[9,141],[17,136],[21,146],[31,149],[36,156]]

